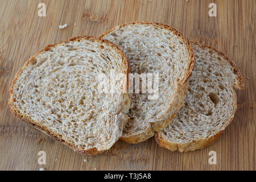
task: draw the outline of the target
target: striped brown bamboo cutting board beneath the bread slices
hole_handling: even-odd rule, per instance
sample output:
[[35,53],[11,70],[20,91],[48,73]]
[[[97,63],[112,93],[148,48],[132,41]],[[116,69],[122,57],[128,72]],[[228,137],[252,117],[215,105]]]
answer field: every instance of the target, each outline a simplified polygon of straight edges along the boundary
[[[38,16],[45,3],[46,16]],[[217,16],[208,15],[209,3]],[[251,1],[0,1],[0,169],[1,170],[255,170],[256,57],[255,0]],[[71,36],[100,35],[135,20],[170,24],[190,40],[225,52],[241,69],[245,90],[228,129],[212,145],[188,153],[171,152],[153,138],[139,144],[118,141],[99,156],[77,154],[15,118],[9,88],[24,61],[49,43]],[[64,30],[60,24],[68,24]],[[38,152],[46,164],[38,164]],[[217,164],[209,164],[216,151]],[[57,159],[57,160],[55,160]],[[84,159],[87,161],[84,162]]]

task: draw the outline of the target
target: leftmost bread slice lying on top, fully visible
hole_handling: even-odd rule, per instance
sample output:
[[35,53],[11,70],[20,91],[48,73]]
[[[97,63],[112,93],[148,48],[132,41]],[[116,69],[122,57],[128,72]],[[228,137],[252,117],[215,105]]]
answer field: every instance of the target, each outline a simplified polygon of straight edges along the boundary
[[121,137],[130,107],[122,90],[98,92],[97,76],[109,77],[111,69],[125,75],[117,88],[127,89],[126,57],[108,40],[79,36],[49,45],[16,73],[11,111],[77,152],[108,150]]

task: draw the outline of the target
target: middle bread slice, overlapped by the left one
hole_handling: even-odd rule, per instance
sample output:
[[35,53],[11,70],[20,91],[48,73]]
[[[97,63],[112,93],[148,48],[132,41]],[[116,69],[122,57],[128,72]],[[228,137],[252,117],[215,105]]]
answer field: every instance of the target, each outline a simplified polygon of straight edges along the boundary
[[[129,92],[131,119],[121,139],[128,143],[143,142],[166,127],[183,105],[194,64],[191,45],[174,28],[149,22],[126,23],[104,32],[100,38],[122,49],[131,73],[159,74],[159,97],[155,100],[148,99],[148,93]],[[129,80],[129,85],[133,85],[132,81]]]

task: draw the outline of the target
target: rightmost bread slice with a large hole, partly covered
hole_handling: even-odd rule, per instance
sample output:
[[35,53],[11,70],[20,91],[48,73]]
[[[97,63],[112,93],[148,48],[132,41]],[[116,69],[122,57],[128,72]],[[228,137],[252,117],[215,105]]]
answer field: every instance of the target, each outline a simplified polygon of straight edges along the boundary
[[156,142],[171,151],[192,151],[214,142],[237,109],[234,88],[243,89],[240,71],[224,53],[197,42],[192,46],[195,67],[185,104],[174,121],[155,134]]

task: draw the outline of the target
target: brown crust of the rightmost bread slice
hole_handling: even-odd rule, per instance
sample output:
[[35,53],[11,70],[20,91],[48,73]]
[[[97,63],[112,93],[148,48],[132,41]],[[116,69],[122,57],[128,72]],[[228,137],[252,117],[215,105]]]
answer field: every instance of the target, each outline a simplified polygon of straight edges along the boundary
[[[210,51],[214,51],[216,52],[220,57],[223,57],[228,64],[232,65],[233,69],[234,69],[234,74],[237,76],[237,84],[234,85],[234,87],[236,89],[240,89],[243,90],[243,81],[242,81],[242,75],[240,70],[238,69],[237,65],[233,63],[232,60],[229,59],[228,56],[225,55],[225,53],[218,51],[216,48],[208,46],[206,44],[202,44],[200,42],[191,42],[193,44],[196,44],[198,46],[200,46],[201,48],[207,48]],[[168,140],[165,140],[162,137],[162,133],[155,133],[155,140],[156,143],[159,144],[159,146],[167,148],[168,150],[171,151],[176,151],[178,150],[179,152],[188,152],[188,151],[193,151],[193,150],[197,150],[200,148],[204,148],[209,146],[210,144],[212,144],[218,137],[220,137],[220,135],[226,130],[226,128],[228,127],[228,125],[230,124],[230,122],[232,122],[234,113],[237,110],[237,95],[236,92],[232,89],[232,95],[233,95],[233,113],[232,113],[232,117],[230,117],[228,119],[228,122],[226,123],[225,127],[222,127],[220,130],[218,130],[218,132],[208,138],[203,138],[203,139],[198,139],[198,140],[193,140],[191,142],[187,142],[187,143],[177,143],[177,142],[171,142]]]

